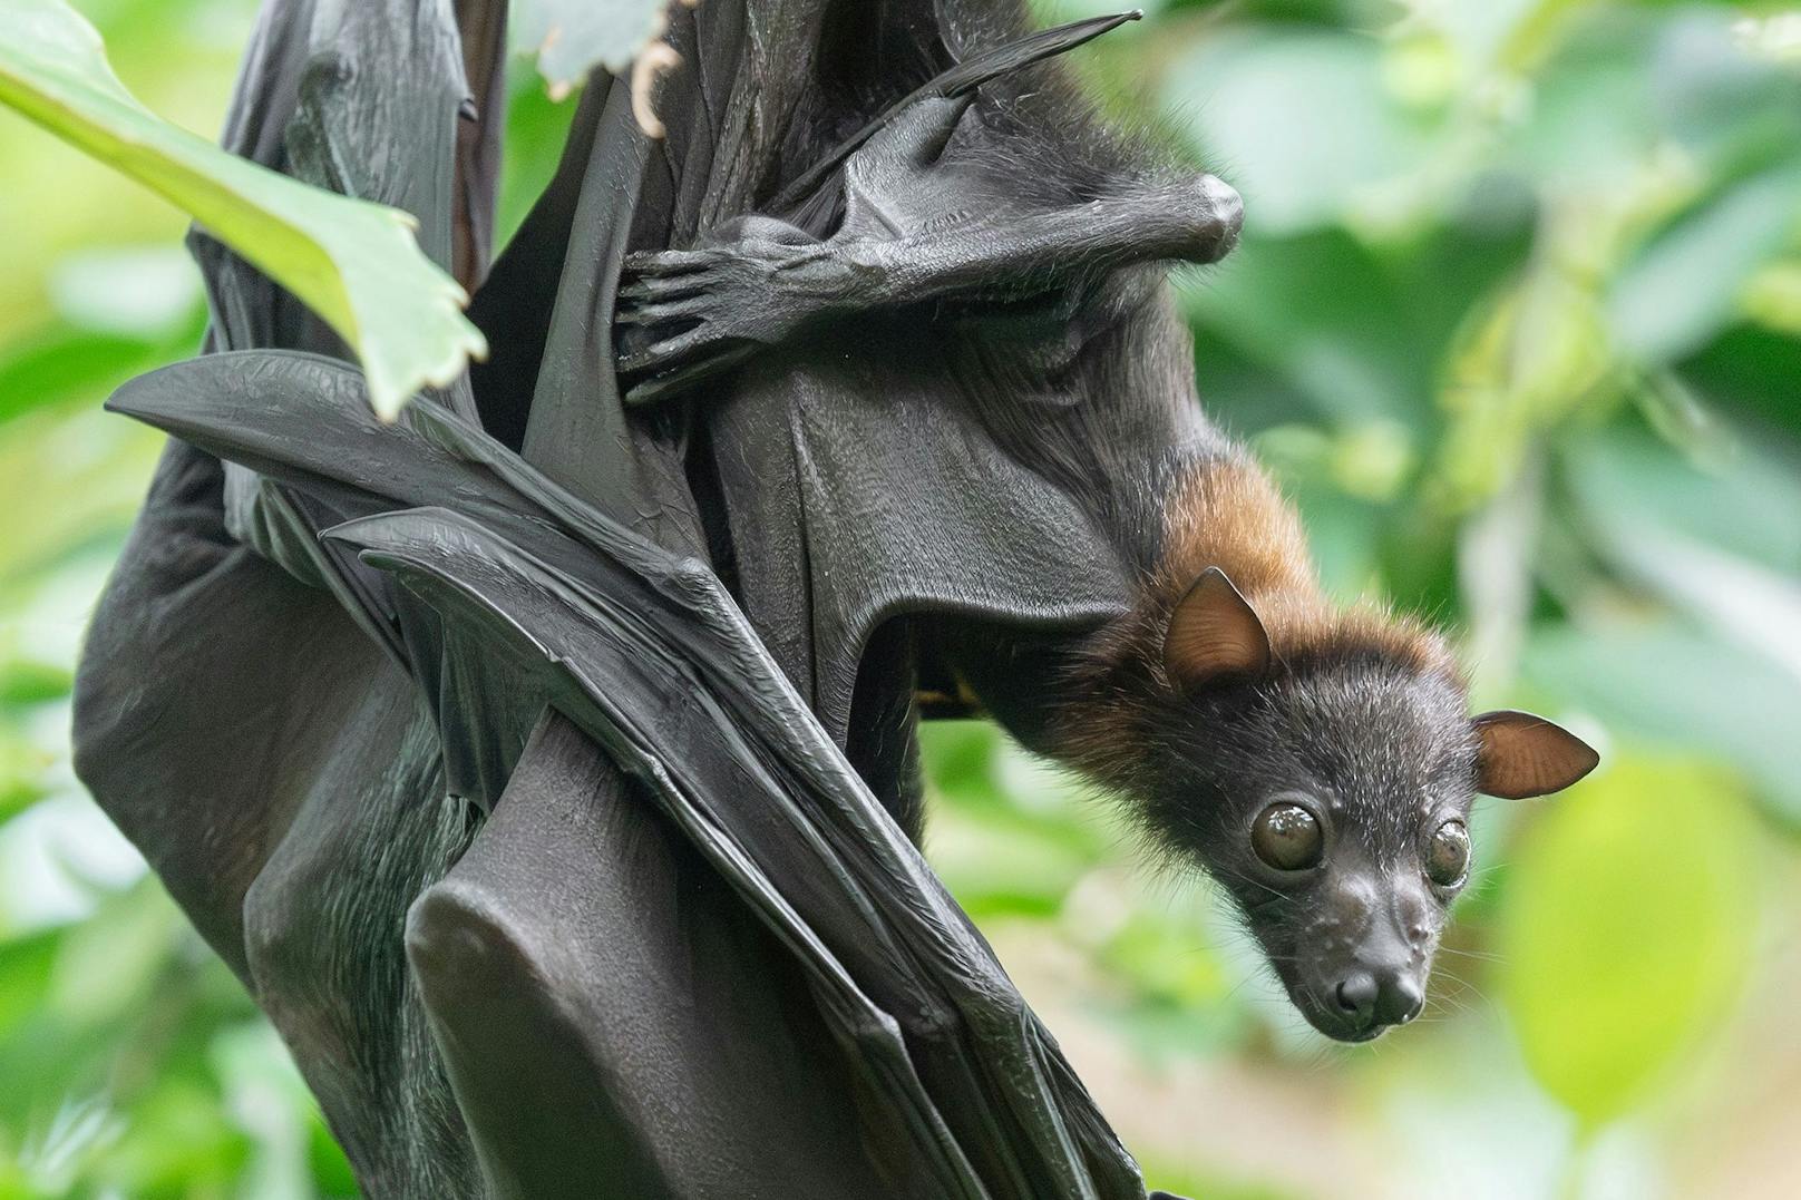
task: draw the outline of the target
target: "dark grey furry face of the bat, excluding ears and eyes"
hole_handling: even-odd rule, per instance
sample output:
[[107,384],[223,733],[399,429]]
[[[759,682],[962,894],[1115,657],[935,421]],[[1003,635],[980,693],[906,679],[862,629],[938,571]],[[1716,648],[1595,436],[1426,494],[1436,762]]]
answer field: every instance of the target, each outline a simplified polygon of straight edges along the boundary
[[[1156,832],[1234,895],[1308,1022],[1367,1041],[1412,1020],[1464,885],[1426,874],[1432,836],[1475,798],[1462,690],[1367,658],[1315,663],[1208,688],[1160,724]],[[1317,822],[1317,865],[1259,858],[1252,831],[1277,804]]]

